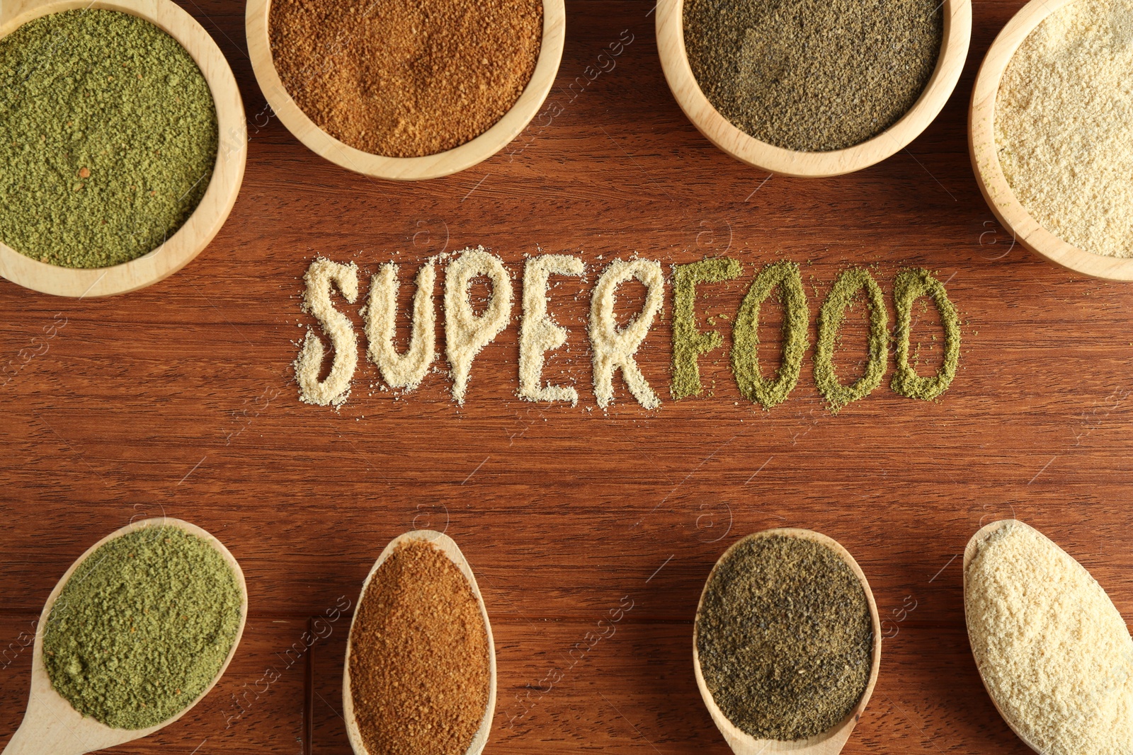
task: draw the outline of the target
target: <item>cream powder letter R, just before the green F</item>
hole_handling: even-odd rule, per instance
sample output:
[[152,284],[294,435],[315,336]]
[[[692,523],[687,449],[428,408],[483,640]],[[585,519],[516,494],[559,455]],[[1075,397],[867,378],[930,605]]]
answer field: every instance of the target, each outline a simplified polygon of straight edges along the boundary
[[[621,331],[614,319],[617,286],[637,278],[646,286],[645,307]],[[657,409],[661,400],[638,369],[633,354],[649,334],[654,318],[665,303],[665,276],[661,263],[649,259],[615,259],[603,272],[590,299],[590,348],[594,351],[594,393],[605,409],[614,398],[614,370],[621,368],[630,393],[646,409]]]

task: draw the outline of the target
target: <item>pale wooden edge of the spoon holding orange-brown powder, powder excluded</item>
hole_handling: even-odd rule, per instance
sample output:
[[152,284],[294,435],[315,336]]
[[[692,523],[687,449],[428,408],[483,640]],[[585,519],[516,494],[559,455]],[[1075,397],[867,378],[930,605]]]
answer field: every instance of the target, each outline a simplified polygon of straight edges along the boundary
[[[480,755],[484,750],[484,746],[488,743],[488,731],[492,729],[492,717],[495,714],[495,695],[496,695],[496,670],[495,670],[495,642],[492,640],[492,624],[488,621],[488,611],[484,607],[484,597],[480,595],[480,587],[476,584],[476,575],[472,574],[472,568],[468,565],[468,559],[465,555],[460,552],[460,548],[453,542],[452,538],[441,532],[435,532],[433,530],[414,530],[399,535],[390,541],[390,544],[385,547],[385,550],[377,557],[374,561],[373,568],[370,568],[369,574],[366,575],[366,581],[361,583],[361,593],[358,595],[357,606],[361,606],[361,602],[366,599],[366,589],[369,587],[370,581],[377,573],[378,567],[385,563],[385,559],[390,557],[391,554],[403,542],[410,540],[423,540],[431,542],[448,556],[453,564],[460,569],[460,573],[465,575],[468,580],[468,585],[472,589],[472,594],[476,595],[476,602],[480,607],[480,616],[484,618],[484,630],[488,635],[488,704],[484,709],[484,718],[480,721],[480,728],[476,730],[476,735],[472,737],[472,743],[465,750],[466,755]],[[350,746],[353,748],[356,755],[369,755],[369,750],[366,749],[366,745],[363,743],[361,733],[358,731],[358,720],[355,718],[353,712],[353,695],[350,693],[350,646],[353,637],[353,625],[358,620],[358,610],[355,609],[353,618],[350,620],[350,634],[347,635],[347,655],[343,661],[342,668],[342,717],[347,722],[347,738],[350,739]]]

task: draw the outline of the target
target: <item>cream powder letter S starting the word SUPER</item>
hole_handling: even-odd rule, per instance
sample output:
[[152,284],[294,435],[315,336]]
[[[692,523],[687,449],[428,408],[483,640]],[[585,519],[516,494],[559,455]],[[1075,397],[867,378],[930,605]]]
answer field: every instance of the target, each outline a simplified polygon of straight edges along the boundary
[[330,375],[320,383],[323,342],[308,328],[303,349],[295,360],[299,400],[318,406],[339,406],[350,395],[350,380],[358,366],[358,338],[347,316],[331,303],[331,284],[337,285],[342,297],[352,304],[358,299],[358,266],[353,263],[340,265],[320,257],[307,268],[304,280],[307,283],[304,311],[313,315],[330,337],[334,361]]

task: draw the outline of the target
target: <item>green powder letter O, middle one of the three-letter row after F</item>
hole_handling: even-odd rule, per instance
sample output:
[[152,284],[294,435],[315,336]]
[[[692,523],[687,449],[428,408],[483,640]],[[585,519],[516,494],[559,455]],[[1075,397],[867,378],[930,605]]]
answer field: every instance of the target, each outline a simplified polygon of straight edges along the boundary
[[[858,292],[866,289],[866,301],[869,306],[869,361],[864,374],[852,385],[845,386],[838,381],[834,371],[834,349],[838,344],[842,320]],[[885,295],[881,286],[868,271],[855,267],[838,276],[830,289],[823,308],[818,311],[818,343],[815,346],[815,385],[830,406],[830,413],[837,414],[846,404],[868,396],[881,384],[885,376],[887,355],[886,337],[888,315],[885,311]]]

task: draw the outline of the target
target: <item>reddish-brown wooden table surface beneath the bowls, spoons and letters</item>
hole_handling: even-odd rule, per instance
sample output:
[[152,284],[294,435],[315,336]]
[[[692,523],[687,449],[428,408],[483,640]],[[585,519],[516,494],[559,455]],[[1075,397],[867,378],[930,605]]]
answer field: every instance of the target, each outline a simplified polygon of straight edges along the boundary
[[[886,618],[880,678],[846,753],[1026,752],[985,694],[964,630],[957,555],[981,523],[1037,526],[1133,612],[1122,534],[1133,523],[1133,288],[1013,248],[968,160],[972,79],[1019,0],[977,1],[964,76],[925,135],[827,180],[768,179],[700,137],[662,76],[651,3],[572,0],[548,100],[562,112],[525,132],[518,154],[424,183],[315,157],[264,109],[242,5],[182,5],[228,55],[248,112],[247,178],[228,224],[181,273],[125,297],[0,282],[0,740],[23,715],[22,645],[52,585],[139,515],[220,537],[250,609],[213,693],[123,754],[348,753],[350,611],[313,617],[356,601],[384,544],[412,527],[452,535],[483,587],[500,664],[488,753],[726,753],[693,683],[691,620],[719,554],[766,527],[841,541]],[[599,58],[620,38],[632,38],[622,54]],[[606,70],[589,80],[589,66]],[[580,76],[586,86],[568,89]],[[314,324],[299,304],[315,256],[370,273],[397,259],[408,278],[428,255],[476,244],[508,263],[517,293],[528,255],[587,261],[585,282],[553,290],[571,336],[545,372],[578,386],[578,407],[516,397],[518,318],[477,359],[463,407],[442,372],[440,325],[440,369],[416,393],[372,387],[377,370],[360,361],[340,411],[298,401],[291,361]],[[706,394],[674,402],[670,288],[639,353],[663,406],[641,409],[619,378],[616,403],[595,407],[586,312],[600,268],[637,254],[667,272],[725,252],[744,275],[701,286],[698,308],[726,343],[721,316],[770,260],[803,266],[812,320],[849,266],[875,266],[887,297],[900,268],[938,271],[964,323],[952,388],[938,403],[895,395],[891,355],[885,383],[832,415],[808,350],[798,388],[767,412],[740,396],[725,343],[701,359]],[[627,310],[641,301],[636,285]],[[344,311],[360,327],[359,307]],[[932,311],[914,328],[929,362],[943,340],[931,340]],[[862,364],[863,334],[855,314],[844,376]],[[619,606],[632,609],[610,634],[598,620]]]

